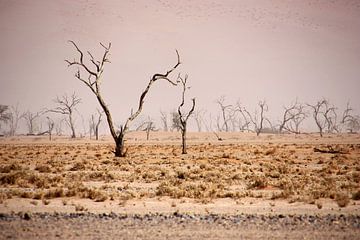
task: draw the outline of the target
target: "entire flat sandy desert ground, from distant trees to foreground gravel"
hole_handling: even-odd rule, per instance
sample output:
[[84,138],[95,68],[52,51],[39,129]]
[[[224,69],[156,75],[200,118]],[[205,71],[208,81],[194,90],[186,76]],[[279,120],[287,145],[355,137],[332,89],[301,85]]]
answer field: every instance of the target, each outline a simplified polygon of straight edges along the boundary
[[0,138],[0,239],[359,239],[360,135]]

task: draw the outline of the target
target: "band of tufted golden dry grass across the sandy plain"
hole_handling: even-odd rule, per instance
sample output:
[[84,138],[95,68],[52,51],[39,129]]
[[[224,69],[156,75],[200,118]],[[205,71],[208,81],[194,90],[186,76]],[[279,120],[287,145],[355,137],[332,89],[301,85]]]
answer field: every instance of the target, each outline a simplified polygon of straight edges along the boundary
[[342,154],[313,150],[328,146],[198,143],[181,155],[178,145],[130,144],[127,157],[120,159],[106,143],[1,144],[0,203],[16,196],[44,204],[76,197],[125,205],[133,198],[168,196],[202,203],[282,198],[319,208],[319,199],[330,198],[345,207],[349,196],[360,198],[360,145],[331,145]]

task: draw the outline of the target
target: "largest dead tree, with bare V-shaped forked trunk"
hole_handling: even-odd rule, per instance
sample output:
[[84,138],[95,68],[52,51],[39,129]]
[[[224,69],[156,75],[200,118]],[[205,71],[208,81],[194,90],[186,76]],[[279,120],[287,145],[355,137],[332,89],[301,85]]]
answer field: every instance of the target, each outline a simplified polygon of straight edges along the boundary
[[[86,64],[84,62],[84,53],[79,49],[79,47],[75,44],[75,42],[73,42],[73,41],[69,41],[69,42],[75,47],[77,53],[79,54],[79,58],[77,60],[74,59],[72,61],[69,61],[69,60],[65,60],[65,61],[68,63],[68,66],[73,66],[73,65],[78,66],[78,71],[75,74],[75,77],[79,81],[83,82],[92,91],[92,93],[94,93],[94,95],[96,96],[101,108],[103,109],[103,111],[106,115],[106,119],[107,119],[107,122],[109,125],[109,130],[110,130],[111,136],[113,137],[114,142],[115,142],[115,151],[114,151],[115,156],[124,157],[126,155],[126,151],[124,148],[125,135],[129,130],[131,122],[134,121],[134,119],[142,111],[145,97],[146,97],[147,93],[149,92],[152,84],[158,80],[166,80],[170,84],[176,86],[176,83],[172,82],[169,79],[169,75],[180,65],[179,53],[178,53],[178,51],[176,51],[177,63],[174,65],[174,67],[172,67],[170,70],[168,70],[165,74],[156,73],[151,77],[145,90],[140,95],[138,109],[135,112],[132,112],[130,114],[130,116],[127,118],[127,120],[125,121],[125,124],[121,125],[120,129],[118,131],[116,131],[110,110],[102,97],[101,89],[100,89],[101,78],[102,78],[102,73],[104,71],[105,64],[110,63],[108,56],[110,53],[111,43],[109,43],[108,46],[105,46],[102,43],[100,43],[100,45],[104,48],[104,54],[103,54],[101,60],[99,60],[99,61],[95,60],[95,58],[93,57],[93,55],[90,52],[87,52],[89,55],[89,58],[90,58],[90,62],[92,63],[92,67],[91,67],[90,64]],[[81,71],[80,71],[80,69],[81,69]],[[87,74],[87,77],[84,78],[82,76],[81,72],[85,72],[85,74]]]

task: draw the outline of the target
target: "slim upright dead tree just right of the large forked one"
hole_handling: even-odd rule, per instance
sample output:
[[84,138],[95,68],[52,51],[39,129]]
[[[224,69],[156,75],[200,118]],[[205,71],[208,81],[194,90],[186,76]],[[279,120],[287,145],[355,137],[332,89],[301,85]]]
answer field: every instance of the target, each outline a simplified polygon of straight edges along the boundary
[[192,107],[189,112],[184,113],[182,111],[184,104],[185,104],[185,92],[186,89],[189,89],[189,87],[186,86],[188,75],[185,75],[184,78],[182,78],[179,74],[178,79],[180,79],[181,86],[182,86],[182,98],[181,103],[178,107],[178,114],[179,114],[179,120],[180,120],[180,130],[181,130],[181,139],[182,139],[182,154],[186,154],[186,130],[187,130],[187,121],[191,114],[194,112],[195,109],[195,98],[192,98]]

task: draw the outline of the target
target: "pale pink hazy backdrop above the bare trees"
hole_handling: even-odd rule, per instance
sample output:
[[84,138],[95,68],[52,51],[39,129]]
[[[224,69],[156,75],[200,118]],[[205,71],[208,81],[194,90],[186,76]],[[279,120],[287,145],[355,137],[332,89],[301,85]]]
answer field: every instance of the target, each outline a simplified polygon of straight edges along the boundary
[[[87,117],[97,102],[64,59],[67,40],[101,56],[112,42],[103,96],[117,123],[135,108],[152,74],[176,63],[189,74],[189,97],[216,114],[225,95],[253,111],[266,99],[280,118],[295,98],[328,98],[360,112],[359,0],[0,0],[0,103],[23,110],[54,107],[75,91]],[[174,74],[176,77],[177,74]],[[180,88],[159,83],[145,113],[176,108]]]

